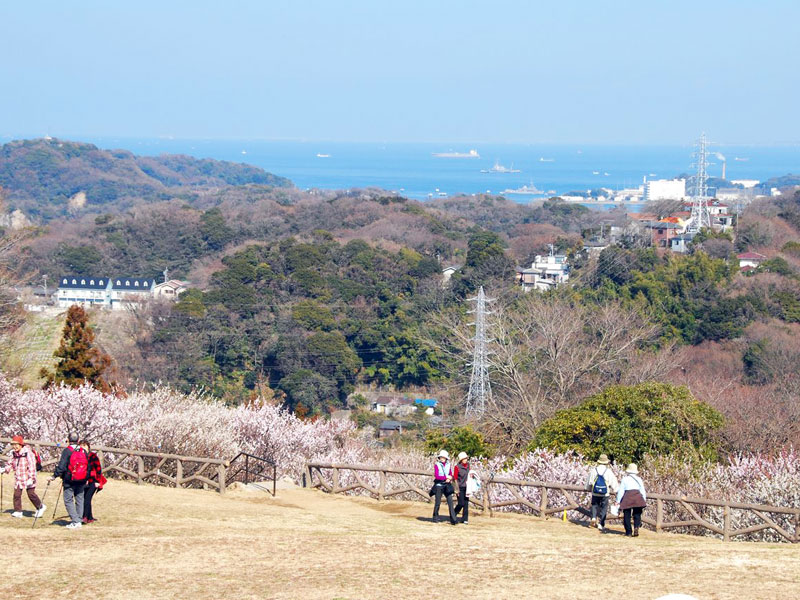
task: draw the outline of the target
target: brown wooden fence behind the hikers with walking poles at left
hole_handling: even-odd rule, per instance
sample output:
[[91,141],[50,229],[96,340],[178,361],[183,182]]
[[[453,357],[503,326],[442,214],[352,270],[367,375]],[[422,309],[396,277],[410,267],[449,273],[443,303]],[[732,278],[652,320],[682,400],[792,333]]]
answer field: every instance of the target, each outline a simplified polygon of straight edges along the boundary
[[[0,438],[0,442],[8,444],[11,439]],[[65,447],[65,444],[39,440],[26,440],[25,443],[42,457],[44,470],[51,470],[58,463]],[[93,446],[92,450],[97,453],[106,476],[116,475],[136,483],[166,483],[176,488],[202,487],[225,493],[225,474],[229,464],[226,460],[106,446]]]

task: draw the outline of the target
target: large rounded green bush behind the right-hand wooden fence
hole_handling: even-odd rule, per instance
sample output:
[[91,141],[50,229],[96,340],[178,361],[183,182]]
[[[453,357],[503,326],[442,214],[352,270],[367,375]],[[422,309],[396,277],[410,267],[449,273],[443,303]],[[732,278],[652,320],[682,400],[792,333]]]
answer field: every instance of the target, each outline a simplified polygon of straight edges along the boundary
[[689,390],[666,383],[610,386],[545,421],[530,448],[575,450],[620,463],[646,454],[686,453],[714,458],[722,415]]

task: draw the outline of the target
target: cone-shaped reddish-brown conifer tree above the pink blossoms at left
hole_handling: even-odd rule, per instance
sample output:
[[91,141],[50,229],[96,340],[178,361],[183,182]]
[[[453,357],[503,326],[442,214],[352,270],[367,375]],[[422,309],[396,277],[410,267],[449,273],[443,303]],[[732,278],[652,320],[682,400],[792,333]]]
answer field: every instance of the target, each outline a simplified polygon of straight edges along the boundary
[[94,347],[94,331],[87,320],[83,308],[77,304],[70,306],[61,345],[53,353],[59,359],[58,364],[53,372],[41,370],[41,376],[46,379],[45,388],[60,383],[77,387],[88,381],[103,393],[112,391],[104,377],[111,366],[111,357]]

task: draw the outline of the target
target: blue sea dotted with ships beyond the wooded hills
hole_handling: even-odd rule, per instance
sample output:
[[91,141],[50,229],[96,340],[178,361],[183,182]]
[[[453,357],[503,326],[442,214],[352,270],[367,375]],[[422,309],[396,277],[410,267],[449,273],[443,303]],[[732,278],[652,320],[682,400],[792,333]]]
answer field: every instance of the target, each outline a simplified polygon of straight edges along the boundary
[[[188,154],[249,163],[288,177],[302,189],[378,187],[410,198],[491,193],[523,185],[550,194],[599,187],[636,187],[643,177],[669,179],[692,173],[693,147],[578,146],[523,144],[335,143],[235,140],[95,138],[101,148],[136,154]],[[442,158],[436,152],[468,152],[480,158]],[[719,176],[722,157],[728,179],[758,179],[800,173],[800,146],[711,146],[708,172]],[[327,155],[324,157],[318,154]],[[481,173],[495,163],[519,173]],[[506,194],[519,202],[531,196]]]

